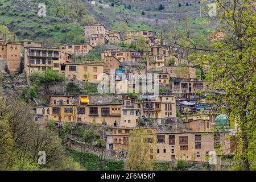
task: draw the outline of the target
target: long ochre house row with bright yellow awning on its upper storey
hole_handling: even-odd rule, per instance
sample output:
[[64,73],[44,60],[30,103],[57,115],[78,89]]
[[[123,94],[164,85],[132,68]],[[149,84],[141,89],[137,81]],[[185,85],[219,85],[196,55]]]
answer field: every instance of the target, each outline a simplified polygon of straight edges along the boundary
[[102,103],[90,100],[89,96],[50,96],[48,106],[34,108],[38,122],[52,119],[56,122],[97,123],[112,127],[136,127],[138,109],[125,108],[122,103]]

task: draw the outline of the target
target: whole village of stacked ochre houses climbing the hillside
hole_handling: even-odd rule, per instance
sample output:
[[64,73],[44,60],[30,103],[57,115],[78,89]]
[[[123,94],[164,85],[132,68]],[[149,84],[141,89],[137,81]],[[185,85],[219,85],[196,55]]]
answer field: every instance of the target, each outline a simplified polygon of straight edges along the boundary
[[[45,95],[46,102],[33,98],[36,123],[43,128],[48,121],[54,121],[56,126],[101,126],[106,153],[117,159],[127,157],[134,129],[146,135],[150,143],[147,155],[153,161],[208,162],[209,152],[217,150],[220,164],[232,158],[238,128],[226,113],[214,113],[207,96],[218,96],[222,90],[203,80],[207,68],[199,69],[183,59],[179,49],[158,38],[154,31],[126,31],[121,35],[104,24],[94,23],[84,27],[84,36],[88,43],[53,47],[43,47],[35,41],[0,40],[3,75],[21,74],[26,82],[35,73],[53,71],[78,88],[76,93],[69,92],[66,86],[53,89]],[[98,52],[101,59],[86,60],[99,46],[104,47]],[[76,63],[75,56],[84,60]],[[85,83],[97,86],[102,73],[114,80],[114,93],[88,94],[83,90]],[[131,78],[136,73],[157,75],[153,85],[159,85],[159,93],[142,93],[142,89],[139,93],[122,92],[123,88],[134,91],[137,84],[142,85],[136,77]],[[8,94],[3,83],[1,93]]]

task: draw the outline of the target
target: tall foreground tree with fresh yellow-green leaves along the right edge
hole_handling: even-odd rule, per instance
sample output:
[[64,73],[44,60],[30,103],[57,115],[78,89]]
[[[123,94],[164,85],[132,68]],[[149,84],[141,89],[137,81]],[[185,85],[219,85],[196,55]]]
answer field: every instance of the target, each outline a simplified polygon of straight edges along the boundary
[[[197,48],[198,63],[209,67],[207,80],[224,94],[215,98],[216,111],[229,114],[238,125],[236,163],[243,170],[255,169],[256,138],[256,11],[253,1],[217,1],[222,38],[211,49]],[[203,53],[207,51],[207,53]],[[225,102],[226,107],[222,103]]]

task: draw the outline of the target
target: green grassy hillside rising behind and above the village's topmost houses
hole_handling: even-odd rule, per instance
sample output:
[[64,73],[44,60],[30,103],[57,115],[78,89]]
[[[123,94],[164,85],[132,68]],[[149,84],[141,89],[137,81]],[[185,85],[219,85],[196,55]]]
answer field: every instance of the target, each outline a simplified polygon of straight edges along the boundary
[[[47,16],[44,18],[37,14],[40,2],[46,3]],[[168,14],[197,13],[199,3],[186,6],[180,1],[179,7],[177,1],[171,2],[105,0],[104,5],[94,6],[88,0],[0,0],[0,24],[8,27],[19,40],[42,41],[44,46],[84,43],[83,27],[94,22],[121,32],[154,30],[166,37],[174,30],[182,34],[189,28],[193,38],[201,40],[203,36],[206,40],[211,27],[208,17]],[[160,5],[164,9],[159,10]]]

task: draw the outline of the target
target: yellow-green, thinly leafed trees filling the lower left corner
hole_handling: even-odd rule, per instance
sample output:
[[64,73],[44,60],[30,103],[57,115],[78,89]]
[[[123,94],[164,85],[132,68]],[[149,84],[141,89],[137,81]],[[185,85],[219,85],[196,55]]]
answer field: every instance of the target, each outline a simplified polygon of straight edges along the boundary
[[[0,98],[2,100],[2,98]],[[16,96],[0,102],[0,170],[79,170],[51,130],[40,129],[32,108]],[[46,164],[38,163],[38,152],[46,152]]]

